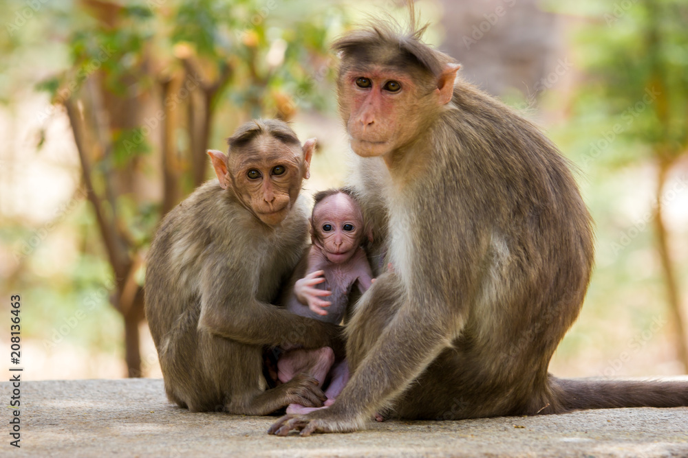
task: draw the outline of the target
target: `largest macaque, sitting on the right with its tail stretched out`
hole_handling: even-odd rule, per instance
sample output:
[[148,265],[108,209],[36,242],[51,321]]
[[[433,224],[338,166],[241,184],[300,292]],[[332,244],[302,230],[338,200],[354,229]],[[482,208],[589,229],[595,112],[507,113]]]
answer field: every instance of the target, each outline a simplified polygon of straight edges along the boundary
[[[364,218],[388,218],[394,272],[347,324],[351,378],[329,409],[270,433],[354,431],[391,408],[462,419],[688,405],[685,382],[548,374],[593,262],[590,214],[557,148],[459,65],[376,21],[334,43]],[[377,209],[377,210],[376,210]],[[384,229],[378,232],[385,232]]]

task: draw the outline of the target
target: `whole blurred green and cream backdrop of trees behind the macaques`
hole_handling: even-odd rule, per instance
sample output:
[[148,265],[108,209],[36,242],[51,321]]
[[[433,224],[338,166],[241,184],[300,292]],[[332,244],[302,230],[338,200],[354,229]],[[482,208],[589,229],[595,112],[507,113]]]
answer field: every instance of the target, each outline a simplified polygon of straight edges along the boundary
[[[419,0],[425,39],[533,119],[596,221],[558,376],[688,368],[688,2]],[[21,295],[27,380],[160,377],[143,315],[162,215],[252,117],[319,138],[305,192],[342,183],[329,43],[396,0],[0,4],[0,354]]]

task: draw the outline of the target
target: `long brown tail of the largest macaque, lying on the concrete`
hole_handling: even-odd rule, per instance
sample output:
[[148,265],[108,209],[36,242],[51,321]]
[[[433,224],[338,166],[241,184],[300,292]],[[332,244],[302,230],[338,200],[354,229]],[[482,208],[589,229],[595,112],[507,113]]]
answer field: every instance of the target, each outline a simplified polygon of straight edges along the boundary
[[688,380],[584,380],[550,377],[559,409],[688,406]]

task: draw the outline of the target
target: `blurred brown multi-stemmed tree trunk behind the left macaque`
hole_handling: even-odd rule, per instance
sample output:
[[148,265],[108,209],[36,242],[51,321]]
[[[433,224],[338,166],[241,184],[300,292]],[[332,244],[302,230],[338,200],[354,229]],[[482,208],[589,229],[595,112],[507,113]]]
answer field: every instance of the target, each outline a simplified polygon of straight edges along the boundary
[[[121,27],[119,5],[102,0],[83,2],[98,19],[102,30]],[[144,247],[134,241],[127,221],[118,211],[120,198],[133,199],[137,205],[144,200],[140,190],[149,178],[140,168],[147,140],[153,141],[160,151],[160,218],[204,181],[208,164],[205,151],[214,108],[231,75],[232,67],[226,62],[215,74],[206,70],[193,49],[186,45],[175,49],[175,57],[167,60],[160,60],[144,47],[135,70],[114,76],[100,69],[89,76],[77,93],[61,100],[72,125],[89,202],[116,278],[111,303],[124,320],[129,377],[142,376],[139,325],[145,319],[144,294],[136,276],[144,265]],[[144,86],[142,80],[151,81],[152,87]],[[120,90],[114,91],[113,87]],[[149,95],[150,89],[160,97]],[[127,157],[116,157],[122,154],[116,151],[116,140],[126,139],[128,133],[141,129],[147,113],[162,113],[162,119],[158,117],[155,125],[145,124],[152,135],[138,133],[126,148]],[[178,141],[182,130],[189,135],[189,146],[183,151]],[[120,165],[116,165],[118,160]],[[121,161],[126,165],[121,165]],[[185,180],[186,176],[190,179]]]

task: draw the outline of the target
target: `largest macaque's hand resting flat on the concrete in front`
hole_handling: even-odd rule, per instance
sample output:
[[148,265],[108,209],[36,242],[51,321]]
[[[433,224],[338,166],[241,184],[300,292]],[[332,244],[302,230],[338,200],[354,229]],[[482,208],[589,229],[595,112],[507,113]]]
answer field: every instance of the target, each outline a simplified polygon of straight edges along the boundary
[[306,415],[284,415],[270,426],[268,434],[286,436],[289,431],[301,431],[303,437],[312,433],[352,433],[363,428],[364,422],[332,409],[318,409]]

